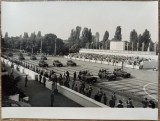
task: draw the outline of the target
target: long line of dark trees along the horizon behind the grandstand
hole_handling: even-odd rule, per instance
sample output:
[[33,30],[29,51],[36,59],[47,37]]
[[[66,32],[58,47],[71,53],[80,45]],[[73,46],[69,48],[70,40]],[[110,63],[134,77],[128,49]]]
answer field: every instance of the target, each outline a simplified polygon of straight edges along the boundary
[[[62,40],[55,34],[45,34],[42,36],[39,31],[37,34],[35,32],[31,33],[30,36],[27,32],[24,32],[23,36],[21,35],[17,37],[9,37],[6,32],[1,42],[2,47],[4,48],[20,49],[32,53],[42,51],[43,53],[53,54],[56,47],[56,54],[62,55],[78,52],[80,48],[110,49],[111,41],[122,41],[121,26],[117,26],[115,35],[110,40],[108,30],[104,32],[103,39],[101,41],[99,40],[99,36],[99,32],[93,34],[90,28],[84,27],[82,30],[82,27],[77,26],[75,29],[71,30],[70,36],[67,40]],[[130,40],[127,43],[128,50],[133,51],[137,49],[141,51],[142,48],[144,51],[147,51],[149,46],[151,51],[154,48],[150,32],[147,29],[143,34],[139,35],[136,30],[133,29],[130,32]]]

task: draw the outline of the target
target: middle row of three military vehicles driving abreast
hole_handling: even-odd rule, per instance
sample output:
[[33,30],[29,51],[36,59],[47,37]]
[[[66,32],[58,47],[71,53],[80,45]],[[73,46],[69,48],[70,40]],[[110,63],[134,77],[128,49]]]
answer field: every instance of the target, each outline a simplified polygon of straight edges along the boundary
[[[39,61],[39,66],[40,67],[48,67],[48,64],[44,60],[40,60]],[[55,67],[63,67],[63,64],[59,60],[54,60],[53,61],[53,66],[55,66]],[[77,64],[72,60],[68,60],[67,61],[67,66],[77,66]]]

